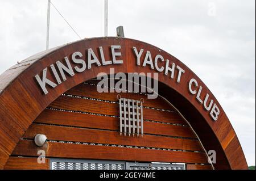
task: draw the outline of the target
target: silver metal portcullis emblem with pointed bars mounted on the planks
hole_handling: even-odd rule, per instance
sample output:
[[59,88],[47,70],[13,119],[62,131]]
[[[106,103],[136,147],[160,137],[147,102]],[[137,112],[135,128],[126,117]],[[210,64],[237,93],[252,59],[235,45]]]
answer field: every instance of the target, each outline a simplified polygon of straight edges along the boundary
[[143,101],[119,98],[120,134],[143,137]]

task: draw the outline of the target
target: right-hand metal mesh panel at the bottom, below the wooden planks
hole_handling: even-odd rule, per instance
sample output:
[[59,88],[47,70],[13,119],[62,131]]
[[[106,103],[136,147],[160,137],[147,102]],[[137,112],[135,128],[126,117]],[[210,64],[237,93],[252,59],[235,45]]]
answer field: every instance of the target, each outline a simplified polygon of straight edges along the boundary
[[185,170],[185,164],[126,163],[127,170]]

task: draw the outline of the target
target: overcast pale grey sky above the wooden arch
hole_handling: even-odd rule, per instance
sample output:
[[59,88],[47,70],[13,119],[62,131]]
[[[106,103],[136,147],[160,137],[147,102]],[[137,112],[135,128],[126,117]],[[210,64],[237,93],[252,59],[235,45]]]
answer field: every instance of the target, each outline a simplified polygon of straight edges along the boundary
[[[104,0],[52,0],[84,37],[104,36]],[[46,47],[47,0],[0,0],[0,74]],[[166,50],[191,68],[228,115],[255,165],[255,0],[109,0],[109,36]],[[51,8],[50,48],[79,37]]]

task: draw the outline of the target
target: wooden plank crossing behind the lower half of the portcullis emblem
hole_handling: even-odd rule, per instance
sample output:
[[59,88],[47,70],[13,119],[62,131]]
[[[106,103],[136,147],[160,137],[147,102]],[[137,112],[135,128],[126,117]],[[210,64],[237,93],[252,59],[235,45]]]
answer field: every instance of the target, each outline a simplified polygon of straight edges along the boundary
[[[46,110],[35,123],[56,125],[68,125],[82,128],[97,128],[119,131],[119,119],[117,117],[96,116],[84,113],[63,112]],[[152,123],[144,121],[144,133],[159,134],[164,136],[196,138],[191,128],[178,125]]]

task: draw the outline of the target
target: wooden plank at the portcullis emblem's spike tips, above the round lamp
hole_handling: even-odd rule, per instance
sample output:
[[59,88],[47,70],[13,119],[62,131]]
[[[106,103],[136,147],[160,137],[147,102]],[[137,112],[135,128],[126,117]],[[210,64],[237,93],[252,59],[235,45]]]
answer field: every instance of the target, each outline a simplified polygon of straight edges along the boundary
[[[99,144],[144,146],[176,150],[201,151],[199,141],[162,136],[144,135],[143,137],[120,136],[119,132],[95,129],[68,128],[51,125],[32,124],[23,138],[34,138],[36,134],[45,134],[48,140],[92,142]],[[56,134],[58,133],[58,134]]]

